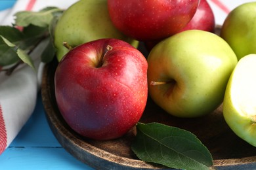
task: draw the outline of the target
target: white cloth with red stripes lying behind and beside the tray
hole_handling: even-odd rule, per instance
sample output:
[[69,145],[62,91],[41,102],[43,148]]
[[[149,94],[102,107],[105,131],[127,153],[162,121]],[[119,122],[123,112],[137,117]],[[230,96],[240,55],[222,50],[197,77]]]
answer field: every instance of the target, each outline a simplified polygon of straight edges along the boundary
[[[17,0],[12,9],[0,11],[0,25],[11,25],[14,22],[13,14],[20,10],[37,11],[50,6],[66,9],[75,1],[77,0]],[[246,0],[207,1],[215,14],[216,24],[219,25],[223,24],[230,10],[248,2]],[[33,112],[41,82],[39,65],[37,61],[38,74],[28,66],[19,67],[11,76],[0,73],[0,155],[11,144]]]

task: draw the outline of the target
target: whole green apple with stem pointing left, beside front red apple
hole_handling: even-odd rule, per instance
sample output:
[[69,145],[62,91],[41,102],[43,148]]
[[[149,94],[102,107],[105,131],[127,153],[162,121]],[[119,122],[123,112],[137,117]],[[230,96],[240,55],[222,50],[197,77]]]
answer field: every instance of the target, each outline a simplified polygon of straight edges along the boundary
[[148,56],[149,94],[174,116],[192,118],[223,102],[236,54],[218,35],[202,30],[177,33]]

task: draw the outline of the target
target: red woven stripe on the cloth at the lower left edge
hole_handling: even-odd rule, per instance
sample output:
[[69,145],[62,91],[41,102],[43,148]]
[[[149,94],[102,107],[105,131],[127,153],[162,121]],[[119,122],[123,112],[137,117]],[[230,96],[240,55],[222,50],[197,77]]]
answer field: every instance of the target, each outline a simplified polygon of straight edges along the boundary
[[5,129],[5,121],[3,120],[2,107],[0,105],[0,155],[7,147],[7,132]]

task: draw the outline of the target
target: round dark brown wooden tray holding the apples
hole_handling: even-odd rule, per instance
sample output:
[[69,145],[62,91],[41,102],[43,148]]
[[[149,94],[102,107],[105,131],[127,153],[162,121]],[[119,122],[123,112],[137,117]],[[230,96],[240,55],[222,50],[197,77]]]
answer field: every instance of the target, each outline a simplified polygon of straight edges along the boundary
[[[144,49],[142,49],[144,50]],[[45,65],[41,93],[49,126],[59,143],[77,160],[96,169],[160,169],[161,165],[139,160],[131,151],[135,127],[119,139],[95,141],[75,133],[62,118],[54,96],[57,61]],[[224,121],[222,107],[202,118],[176,118],[148,97],[140,122],[160,122],[194,133],[213,156],[214,168],[256,169],[256,148],[237,137]]]

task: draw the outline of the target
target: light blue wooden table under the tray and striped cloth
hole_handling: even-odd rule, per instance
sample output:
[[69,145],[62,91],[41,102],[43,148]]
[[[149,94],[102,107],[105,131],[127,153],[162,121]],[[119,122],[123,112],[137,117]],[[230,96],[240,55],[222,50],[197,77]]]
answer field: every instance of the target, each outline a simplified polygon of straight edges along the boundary
[[[0,10],[11,8],[16,0],[0,0]],[[54,137],[38,93],[32,117],[9,148],[0,155],[0,169],[92,169],[66,152]]]

